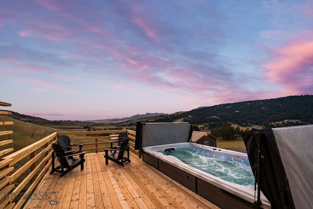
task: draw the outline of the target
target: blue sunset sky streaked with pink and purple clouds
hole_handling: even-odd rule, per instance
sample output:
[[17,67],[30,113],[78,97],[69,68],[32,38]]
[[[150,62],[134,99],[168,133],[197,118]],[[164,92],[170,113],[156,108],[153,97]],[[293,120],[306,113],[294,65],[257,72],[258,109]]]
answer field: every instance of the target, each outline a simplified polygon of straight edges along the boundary
[[313,1],[1,0],[0,85],[49,120],[313,94]]

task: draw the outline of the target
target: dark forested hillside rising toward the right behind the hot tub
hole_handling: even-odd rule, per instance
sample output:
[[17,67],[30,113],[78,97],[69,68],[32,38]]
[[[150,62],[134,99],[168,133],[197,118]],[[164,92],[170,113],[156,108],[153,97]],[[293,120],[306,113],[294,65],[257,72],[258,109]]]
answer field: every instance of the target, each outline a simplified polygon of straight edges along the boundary
[[[240,126],[272,126],[313,124],[313,95],[287,96],[275,99],[225,103],[163,116],[141,118],[142,122],[190,122],[210,129],[231,123]],[[127,121],[120,125],[134,125]],[[280,123],[280,124],[278,124]],[[284,124],[283,124],[284,125]]]

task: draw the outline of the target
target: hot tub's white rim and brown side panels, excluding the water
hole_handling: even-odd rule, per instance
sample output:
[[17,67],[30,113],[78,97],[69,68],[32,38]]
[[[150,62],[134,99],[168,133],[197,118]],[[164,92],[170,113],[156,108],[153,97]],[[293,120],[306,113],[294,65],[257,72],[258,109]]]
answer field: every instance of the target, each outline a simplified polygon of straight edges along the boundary
[[[200,145],[192,142],[170,143],[164,145],[145,146],[142,148],[143,161],[150,164],[173,180],[186,186],[220,208],[249,209],[255,201],[254,186],[238,185],[225,181],[217,176],[201,171],[191,165],[183,163],[178,158],[167,155],[181,148],[194,149],[203,155],[214,156],[225,161],[248,163],[245,153]],[[251,171],[252,173],[252,171]],[[262,194],[262,208],[270,209],[270,203]]]

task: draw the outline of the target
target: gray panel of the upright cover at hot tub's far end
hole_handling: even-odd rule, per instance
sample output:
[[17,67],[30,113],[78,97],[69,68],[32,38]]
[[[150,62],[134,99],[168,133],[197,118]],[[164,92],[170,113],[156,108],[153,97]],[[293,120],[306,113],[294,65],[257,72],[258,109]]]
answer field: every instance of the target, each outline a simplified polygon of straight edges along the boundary
[[142,147],[188,142],[191,123],[143,123]]

